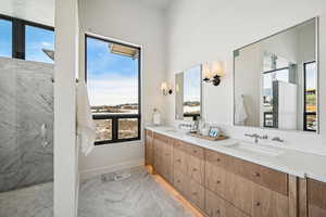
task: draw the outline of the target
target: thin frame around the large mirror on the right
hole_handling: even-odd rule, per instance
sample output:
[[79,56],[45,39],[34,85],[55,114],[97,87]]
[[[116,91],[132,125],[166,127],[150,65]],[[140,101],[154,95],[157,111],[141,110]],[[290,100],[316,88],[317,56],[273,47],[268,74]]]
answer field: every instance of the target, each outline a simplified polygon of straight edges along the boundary
[[[311,21],[315,21],[315,61],[316,61],[316,69],[317,69],[317,76],[316,76],[316,86],[317,86],[317,89],[316,89],[316,104],[317,104],[317,108],[316,108],[316,116],[317,116],[317,125],[316,125],[316,127],[317,127],[317,129],[316,129],[316,131],[304,131],[304,130],[298,130],[298,129],[296,129],[296,130],[285,130],[285,129],[278,129],[278,128],[266,128],[266,127],[261,127],[261,126],[259,126],[259,127],[254,127],[254,126],[239,126],[239,125],[236,125],[236,123],[235,123],[235,120],[236,120],[236,118],[235,118],[235,111],[236,111],[236,86],[235,86],[235,84],[236,84],[236,58],[235,58],[235,53],[236,52],[238,52],[239,50],[241,50],[241,49],[244,49],[244,48],[247,48],[247,47],[249,47],[249,46],[252,46],[252,44],[255,44],[255,43],[259,43],[259,42],[261,42],[261,41],[263,41],[263,40],[265,40],[265,39],[268,39],[268,38],[272,38],[272,37],[274,37],[274,36],[277,36],[277,35],[279,35],[279,34],[281,34],[281,33],[285,33],[285,31],[287,31],[287,30],[290,30],[290,29],[292,29],[292,28],[296,28],[296,27],[298,27],[298,26],[300,26],[300,25],[302,25],[302,24],[304,24],[304,23],[306,23],[306,22],[311,22]],[[299,23],[299,24],[297,24],[297,25],[294,25],[294,26],[291,26],[291,27],[288,27],[288,28],[286,28],[286,29],[284,29],[284,30],[280,30],[280,31],[277,31],[277,33],[275,33],[275,34],[273,34],[273,35],[271,35],[271,36],[267,36],[267,37],[264,37],[264,38],[262,38],[262,39],[259,39],[259,40],[256,40],[256,41],[254,41],[254,42],[251,42],[251,43],[249,43],[249,44],[247,44],[247,46],[242,46],[242,47],[240,47],[240,48],[238,48],[238,49],[235,49],[234,50],[234,52],[233,52],[233,61],[234,61],[234,63],[233,63],[233,67],[234,67],[234,72],[233,72],[233,91],[234,91],[234,94],[233,94],[233,97],[234,97],[234,102],[233,102],[233,105],[234,105],[234,107],[233,107],[233,126],[234,127],[247,127],[247,128],[256,128],[256,129],[266,129],[266,130],[281,130],[281,131],[297,131],[297,132],[304,132],[304,133],[313,133],[313,135],[319,135],[321,133],[321,128],[319,128],[319,120],[321,120],[321,117],[319,117],[319,115],[321,115],[321,112],[319,112],[319,72],[321,72],[321,66],[319,66],[319,16],[315,16],[315,17],[313,17],[313,18],[309,18],[309,20],[306,20],[306,21],[303,21],[303,22],[301,22],[301,23]]]

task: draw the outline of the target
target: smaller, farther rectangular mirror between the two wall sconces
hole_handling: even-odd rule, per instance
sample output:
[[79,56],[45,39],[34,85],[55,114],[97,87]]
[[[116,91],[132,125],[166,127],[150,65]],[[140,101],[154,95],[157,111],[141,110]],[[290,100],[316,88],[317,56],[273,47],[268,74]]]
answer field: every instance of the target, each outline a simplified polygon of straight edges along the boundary
[[175,118],[191,120],[201,116],[201,71],[198,65],[175,75]]

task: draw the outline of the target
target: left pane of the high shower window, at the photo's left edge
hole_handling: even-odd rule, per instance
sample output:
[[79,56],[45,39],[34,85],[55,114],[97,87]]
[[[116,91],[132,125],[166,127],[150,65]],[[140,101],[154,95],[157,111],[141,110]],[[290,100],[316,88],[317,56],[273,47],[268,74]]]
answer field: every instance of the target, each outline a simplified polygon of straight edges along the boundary
[[12,22],[0,18],[0,56],[12,56]]

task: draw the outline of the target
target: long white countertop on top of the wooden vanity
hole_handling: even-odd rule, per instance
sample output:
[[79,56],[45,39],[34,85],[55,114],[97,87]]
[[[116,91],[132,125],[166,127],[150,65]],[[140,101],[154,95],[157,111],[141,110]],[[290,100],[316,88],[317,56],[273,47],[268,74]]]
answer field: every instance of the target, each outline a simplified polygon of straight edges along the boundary
[[298,176],[301,178],[309,177],[318,181],[326,182],[325,156],[275,146],[268,146],[268,150],[275,150],[275,152],[281,151],[283,154],[278,156],[268,156],[255,152],[248,152],[239,149],[234,149],[233,146],[228,146],[230,144],[239,142],[239,140],[235,139],[209,141],[188,136],[185,131],[181,130],[174,131],[171,127],[146,127],[146,129],[165,135],[167,137],[172,137],[174,139],[183,140],[185,142],[199,145],[209,150],[213,150],[262,166],[266,166],[272,169],[284,171],[289,175]]

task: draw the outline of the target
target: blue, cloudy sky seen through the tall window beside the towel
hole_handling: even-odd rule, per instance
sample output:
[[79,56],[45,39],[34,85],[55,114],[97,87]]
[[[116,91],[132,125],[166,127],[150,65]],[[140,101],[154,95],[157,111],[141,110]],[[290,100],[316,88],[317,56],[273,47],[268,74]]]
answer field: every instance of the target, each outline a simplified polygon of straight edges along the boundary
[[88,37],[87,87],[91,105],[138,103],[138,59],[110,53],[109,42]]

